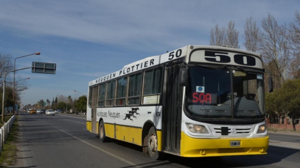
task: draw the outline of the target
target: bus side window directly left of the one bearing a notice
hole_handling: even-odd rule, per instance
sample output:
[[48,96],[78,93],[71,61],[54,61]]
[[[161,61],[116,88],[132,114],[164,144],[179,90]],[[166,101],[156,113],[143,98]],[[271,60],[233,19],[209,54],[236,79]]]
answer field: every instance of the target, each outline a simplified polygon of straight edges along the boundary
[[139,105],[141,97],[142,73],[129,76],[127,104]]

